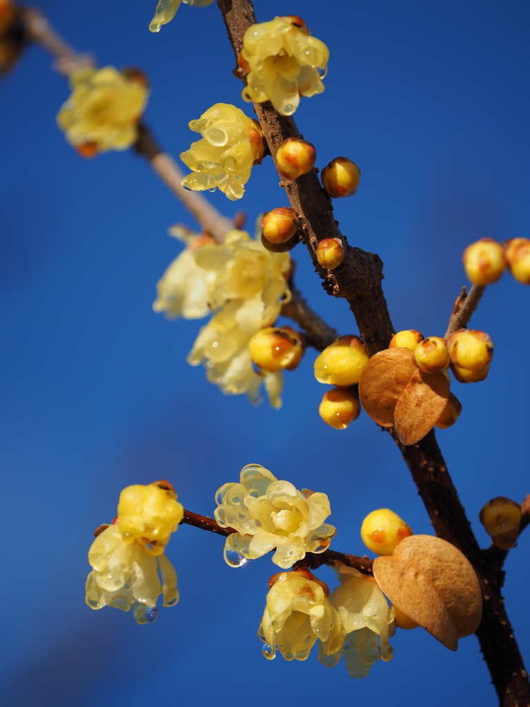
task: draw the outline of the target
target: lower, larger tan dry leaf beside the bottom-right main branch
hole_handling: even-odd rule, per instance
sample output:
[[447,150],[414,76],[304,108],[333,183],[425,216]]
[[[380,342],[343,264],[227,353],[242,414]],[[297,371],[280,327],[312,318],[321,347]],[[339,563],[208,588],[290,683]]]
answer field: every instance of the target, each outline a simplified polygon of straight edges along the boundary
[[461,551],[439,537],[406,537],[393,555],[374,560],[374,577],[392,604],[450,650],[481,623],[475,571]]

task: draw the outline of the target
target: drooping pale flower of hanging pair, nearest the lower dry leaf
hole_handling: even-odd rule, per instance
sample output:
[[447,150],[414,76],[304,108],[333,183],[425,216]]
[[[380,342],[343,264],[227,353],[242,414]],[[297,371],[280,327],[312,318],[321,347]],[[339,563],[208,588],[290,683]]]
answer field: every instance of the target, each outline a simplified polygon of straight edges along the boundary
[[389,627],[394,614],[377,584],[357,570],[336,562],[339,585],[329,597],[341,617],[346,633],[344,645],[336,653],[319,654],[319,661],[334,667],[346,655],[346,670],[351,677],[366,677],[372,664],[392,657]]

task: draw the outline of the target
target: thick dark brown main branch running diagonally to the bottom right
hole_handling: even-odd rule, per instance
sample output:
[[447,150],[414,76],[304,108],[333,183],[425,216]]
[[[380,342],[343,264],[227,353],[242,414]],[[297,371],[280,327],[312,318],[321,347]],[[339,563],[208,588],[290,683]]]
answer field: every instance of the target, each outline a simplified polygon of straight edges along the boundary
[[[218,0],[218,6],[237,57],[245,31],[256,22],[252,4],[249,0]],[[235,75],[245,80],[245,75],[237,69]],[[270,103],[254,107],[274,158],[283,140],[299,137],[300,133],[294,119],[278,115]],[[347,245],[346,238],[339,232],[338,223],[333,218],[331,201],[320,186],[315,170],[297,180],[283,180],[281,185],[302,223],[305,243],[314,267],[324,281],[324,288],[329,294],[348,300],[370,356],[386,349],[394,329],[381,286],[381,259]],[[316,258],[319,240],[328,237],[328,234],[341,238],[346,251],[346,257],[334,271],[320,267]],[[466,305],[461,303],[467,313],[461,315],[459,322],[469,321],[479,298],[476,292],[473,298],[470,294]],[[455,322],[456,318],[453,325]],[[393,430],[389,431],[394,435]],[[505,707],[530,704],[530,685],[500,594],[502,578],[498,580],[490,569],[483,566],[481,551],[447,472],[434,431],[418,444],[408,447],[401,445],[395,435],[394,439],[411,470],[435,531],[464,552],[478,575],[483,591],[484,614],[476,635],[500,703]]]

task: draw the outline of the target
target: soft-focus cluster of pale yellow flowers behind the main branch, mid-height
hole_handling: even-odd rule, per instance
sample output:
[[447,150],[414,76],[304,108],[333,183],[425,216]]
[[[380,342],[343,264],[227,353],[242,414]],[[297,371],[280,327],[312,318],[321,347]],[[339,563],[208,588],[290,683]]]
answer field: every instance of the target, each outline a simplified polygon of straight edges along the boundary
[[269,252],[242,230],[230,231],[222,245],[197,240],[201,237],[185,238],[187,249],[158,283],[153,308],[166,311],[170,317],[192,318],[215,312],[199,332],[189,363],[202,363],[208,380],[223,392],[246,392],[252,402],[258,402],[259,387],[264,382],[271,405],[280,407],[282,373],[256,373],[249,339],[259,329],[273,325],[283,303],[290,300],[285,280],[290,269],[288,253]]

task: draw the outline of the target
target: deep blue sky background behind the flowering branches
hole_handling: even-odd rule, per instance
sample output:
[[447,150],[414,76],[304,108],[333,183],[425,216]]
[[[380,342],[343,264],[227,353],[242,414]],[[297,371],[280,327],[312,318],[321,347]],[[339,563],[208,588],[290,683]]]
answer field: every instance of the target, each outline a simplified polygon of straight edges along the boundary
[[[146,122],[175,157],[194,139],[187,123],[213,103],[248,110],[216,4],[183,4],[158,35],[148,31],[155,0],[37,6],[100,66],[146,71]],[[336,218],[351,244],[381,255],[396,330],[443,335],[468,284],[466,245],[529,237],[528,2],[257,0],[255,11],[258,21],[298,14],[329,46],[326,90],[301,100],[298,126],[320,168],[348,156],[362,170]],[[360,524],[375,508],[392,508],[416,533],[432,528],[386,433],[364,413],[346,431],[321,421],[314,351],[285,375],[280,411],[225,396],[188,366],[204,322],[170,322],[152,303],[180,249],[167,228],[196,224],[143,158],[83,160],[66,144],[55,116],[69,88],[51,63],[29,47],[0,83],[1,703],[495,705],[475,636],[451,653],[422,629],[399,631],[393,660],[366,679],[348,677],[343,662],[331,672],[315,650],[306,662],[268,662],[257,627],[276,566],[267,556],[229,568],[223,539],[189,526],[167,548],[177,607],[137,626],[131,613],[86,606],[93,530],[112,520],[129,484],[168,479],[185,508],[213,515],[216,489],[257,462],[328,494],[336,550],[364,553]],[[208,198],[227,216],[243,209],[251,233],[259,212],[287,205],[270,159],[242,201]],[[358,333],[303,247],[293,257],[311,305],[341,334]],[[488,288],[471,323],[495,344],[490,375],[454,382],[464,410],[437,433],[482,547],[483,504],[530,492],[529,312],[530,288],[510,274]],[[525,533],[510,552],[504,591],[527,656],[529,542]],[[318,574],[334,585],[329,570]]]

